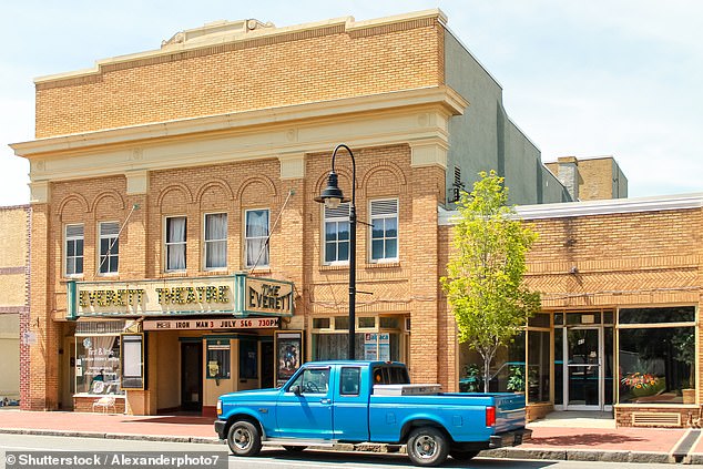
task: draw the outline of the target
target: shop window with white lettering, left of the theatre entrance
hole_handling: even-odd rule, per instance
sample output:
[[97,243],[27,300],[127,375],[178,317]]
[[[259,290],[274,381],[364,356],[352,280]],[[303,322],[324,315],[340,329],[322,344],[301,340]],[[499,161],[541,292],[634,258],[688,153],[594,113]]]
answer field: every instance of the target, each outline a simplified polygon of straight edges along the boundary
[[75,392],[120,395],[120,336],[75,340]]

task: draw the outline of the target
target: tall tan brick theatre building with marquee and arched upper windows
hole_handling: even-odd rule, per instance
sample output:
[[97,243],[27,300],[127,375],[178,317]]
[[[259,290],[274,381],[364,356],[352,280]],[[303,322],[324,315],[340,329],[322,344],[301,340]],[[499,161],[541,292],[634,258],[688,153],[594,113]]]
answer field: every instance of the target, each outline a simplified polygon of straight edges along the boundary
[[[437,282],[456,190],[497,169],[513,203],[548,204],[577,200],[579,185],[624,196],[626,180],[618,194],[590,172],[559,171],[562,183],[446,21],[431,10],[289,28],[216,22],[37,79],[37,139],[12,145],[31,163],[39,341],[22,405],[90,410],[111,396],[134,414],[207,414],[220,394],[346,356],[348,205],[314,202],[338,143],[354,151],[365,223],[356,355],[459,388],[470,358]],[[352,161],[336,163],[345,192]],[[536,266],[573,262],[573,249],[542,246],[567,258]],[[541,395],[554,402],[549,369]]]

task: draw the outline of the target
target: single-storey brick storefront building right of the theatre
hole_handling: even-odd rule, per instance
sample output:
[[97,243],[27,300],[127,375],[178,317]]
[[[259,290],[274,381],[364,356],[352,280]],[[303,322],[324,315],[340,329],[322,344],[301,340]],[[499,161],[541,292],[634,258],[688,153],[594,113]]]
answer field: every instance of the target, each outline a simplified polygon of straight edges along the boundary
[[[542,312],[502,350],[491,386],[509,390],[520,368],[532,418],[556,408],[613,410],[619,426],[699,419],[703,195],[518,213],[539,233],[527,279],[541,292]],[[444,246],[454,216],[440,215]],[[458,355],[460,374],[477,361],[465,347]]]

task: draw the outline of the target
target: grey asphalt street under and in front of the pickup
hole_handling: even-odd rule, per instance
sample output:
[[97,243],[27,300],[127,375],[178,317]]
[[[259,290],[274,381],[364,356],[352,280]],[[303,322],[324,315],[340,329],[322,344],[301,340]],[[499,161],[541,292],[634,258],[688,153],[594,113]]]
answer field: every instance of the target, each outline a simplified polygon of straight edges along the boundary
[[[208,443],[162,442],[143,440],[121,440],[102,438],[71,438],[32,435],[0,434],[0,469],[4,469],[4,451],[217,451],[225,446]],[[233,469],[365,469],[365,468],[412,468],[405,455],[335,452],[307,450],[300,453],[288,453],[283,449],[264,449],[256,458],[235,458],[228,456],[228,468]],[[542,461],[542,460],[507,460],[477,458],[470,462],[456,463],[448,459],[444,468],[481,468],[481,469],[656,469],[671,468],[671,465],[639,465],[589,461]],[[8,468],[10,469],[10,468]]]

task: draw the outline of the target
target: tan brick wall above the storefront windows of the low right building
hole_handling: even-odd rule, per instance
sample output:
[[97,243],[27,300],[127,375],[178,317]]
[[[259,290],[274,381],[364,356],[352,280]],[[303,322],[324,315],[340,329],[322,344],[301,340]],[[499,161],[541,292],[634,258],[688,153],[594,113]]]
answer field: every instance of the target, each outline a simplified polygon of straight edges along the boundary
[[[527,223],[539,234],[539,239],[528,254],[526,281],[530,288],[541,292],[544,310],[681,304],[701,307],[701,208]],[[446,231],[445,248],[451,251],[451,228],[440,231]],[[700,402],[703,354],[699,354],[697,360]],[[631,425],[631,411],[618,410],[619,425],[625,425],[625,420]]]

